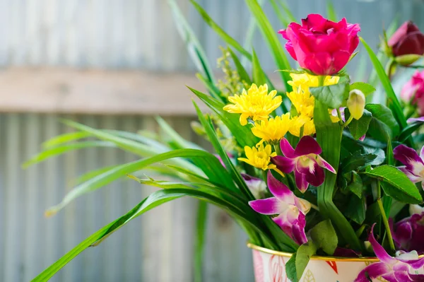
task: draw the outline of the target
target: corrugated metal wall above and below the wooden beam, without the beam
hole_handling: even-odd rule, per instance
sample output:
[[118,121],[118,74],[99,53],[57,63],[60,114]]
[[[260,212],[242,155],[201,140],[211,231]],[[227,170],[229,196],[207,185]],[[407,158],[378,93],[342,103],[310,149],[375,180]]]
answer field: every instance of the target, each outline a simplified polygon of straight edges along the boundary
[[[222,44],[188,1],[187,14],[206,54],[215,65]],[[237,40],[243,40],[249,12],[242,0],[199,1]],[[324,13],[324,0],[288,0],[298,18]],[[362,25],[362,35],[377,45],[382,23],[424,20],[423,1],[334,1],[339,16]],[[266,12],[278,29],[269,6]],[[421,26],[423,28],[423,26]],[[265,69],[275,69],[264,41],[254,39]],[[193,71],[172,23],[166,0],[0,0],[0,66]],[[6,95],[6,94],[5,94]],[[157,127],[151,117],[73,116],[98,128],[136,131]],[[189,139],[189,117],[170,123]],[[49,114],[0,114],[0,281],[29,281],[83,238],[114,220],[153,191],[122,180],[83,196],[53,218],[45,208],[57,204],[71,180],[88,170],[133,160],[115,149],[89,149],[21,170],[40,143],[67,131]],[[53,281],[192,281],[196,201],[180,199],[150,211],[83,252]],[[245,235],[225,213],[211,209],[204,281],[253,281]]]

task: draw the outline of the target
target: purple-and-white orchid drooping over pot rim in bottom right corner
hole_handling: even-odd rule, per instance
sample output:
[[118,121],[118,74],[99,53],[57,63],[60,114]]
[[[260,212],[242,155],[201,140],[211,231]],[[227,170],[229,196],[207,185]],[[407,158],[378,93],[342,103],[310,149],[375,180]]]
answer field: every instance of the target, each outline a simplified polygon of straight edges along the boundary
[[360,271],[355,282],[370,281],[367,276],[371,279],[382,277],[389,282],[424,281],[424,274],[411,273],[424,266],[424,258],[418,259],[418,253],[415,251],[404,252],[396,257],[389,256],[382,245],[379,245],[377,240],[375,240],[374,226],[375,224],[372,225],[368,240],[379,262],[374,262]]

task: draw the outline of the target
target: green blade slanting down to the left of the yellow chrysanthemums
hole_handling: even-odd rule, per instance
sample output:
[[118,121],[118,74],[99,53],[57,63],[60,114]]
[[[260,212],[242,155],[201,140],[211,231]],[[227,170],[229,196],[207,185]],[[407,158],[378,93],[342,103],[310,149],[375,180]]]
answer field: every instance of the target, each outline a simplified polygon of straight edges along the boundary
[[200,100],[202,100],[211,110],[213,110],[213,112],[218,115],[218,117],[222,120],[225,126],[228,127],[232,135],[237,140],[237,143],[239,143],[242,148],[245,146],[253,147],[259,142],[259,139],[252,134],[252,131],[250,131],[249,124],[247,124],[245,127],[240,125],[238,114],[230,114],[229,112],[225,112],[225,110],[223,110],[223,102],[213,99],[196,89],[189,89],[192,90],[192,92],[196,94]]

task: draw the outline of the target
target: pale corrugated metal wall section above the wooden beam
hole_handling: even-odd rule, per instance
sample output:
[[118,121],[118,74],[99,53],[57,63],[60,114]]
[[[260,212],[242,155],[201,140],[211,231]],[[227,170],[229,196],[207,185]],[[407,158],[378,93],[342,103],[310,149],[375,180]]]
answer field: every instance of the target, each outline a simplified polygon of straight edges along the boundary
[[[267,2],[265,0],[265,2]],[[326,11],[326,0],[286,0],[296,18]],[[361,23],[361,36],[376,46],[383,26],[400,20],[424,24],[422,0],[335,0],[339,17]],[[223,43],[188,0],[177,0],[204,44],[213,66]],[[243,42],[249,11],[243,0],[199,0],[211,17]],[[281,26],[271,6],[271,23]],[[60,65],[193,71],[167,0],[0,0],[0,66]],[[257,39],[256,39],[257,38]],[[281,39],[283,42],[283,39]],[[263,40],[254,45],[264,68],[275,69]]]

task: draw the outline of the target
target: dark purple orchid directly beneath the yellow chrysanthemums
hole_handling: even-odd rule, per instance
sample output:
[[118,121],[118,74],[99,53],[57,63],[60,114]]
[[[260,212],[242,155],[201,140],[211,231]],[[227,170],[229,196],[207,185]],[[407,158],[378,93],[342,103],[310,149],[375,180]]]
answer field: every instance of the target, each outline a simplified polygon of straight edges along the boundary
[[280,142],[281,151],[284,156],[277,155],[271,158],[273,164],[279,170],[290,173],[294,170],[296,186],[304,193],[309,184],[318,187],[324,182],[324,170],[326,168],[332,173],[337,173],[334,168],[321,156],[321,147],[311,136],[303,136],[296,149],[283,138]]

